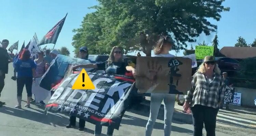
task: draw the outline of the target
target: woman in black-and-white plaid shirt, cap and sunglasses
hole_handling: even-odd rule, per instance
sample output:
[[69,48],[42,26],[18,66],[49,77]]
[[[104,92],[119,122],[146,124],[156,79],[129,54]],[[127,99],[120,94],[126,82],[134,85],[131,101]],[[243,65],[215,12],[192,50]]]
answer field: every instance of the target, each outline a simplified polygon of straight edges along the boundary
[[224,98],[224,81],[213,56],[206,56],[193,75],[192,88],[188,91],[186,111],[191,107],[194,136],[202,136],[203,124],[207,136],[215,136],[216,116]]

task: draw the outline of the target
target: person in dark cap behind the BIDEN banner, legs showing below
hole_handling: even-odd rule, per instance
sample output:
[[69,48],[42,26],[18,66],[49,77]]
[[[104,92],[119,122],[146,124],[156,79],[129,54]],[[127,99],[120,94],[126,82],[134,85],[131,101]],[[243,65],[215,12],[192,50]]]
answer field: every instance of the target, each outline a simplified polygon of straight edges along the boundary
[[[88,60],[88,48],[86,46],[81,47],[79,49],[79,58]],[[76,126],[76,116],[70,116],[69,117],[69,124],[66,126],[67,128],[71,128],[73,126]],[[83,131],[85,126],[85,120],[79,118],[79,131]]]

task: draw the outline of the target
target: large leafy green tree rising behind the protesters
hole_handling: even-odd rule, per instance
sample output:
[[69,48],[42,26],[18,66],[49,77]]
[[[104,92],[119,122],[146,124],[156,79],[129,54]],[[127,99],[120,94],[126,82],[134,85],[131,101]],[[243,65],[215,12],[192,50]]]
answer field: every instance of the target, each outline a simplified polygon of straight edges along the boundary
[[113,46],[122,46],[126,52],[142,50],[151,55],[159,35],[172,37],[179,51],[185,42],[196,42],[202,32],[210,35],[216,25],[207,19],[219,21],[220,13],[229,11],[225,0],[98,0],[96,11],[87,14],[81,28],[73,32],[72,45],[88,46],[89,53],[107,54]]

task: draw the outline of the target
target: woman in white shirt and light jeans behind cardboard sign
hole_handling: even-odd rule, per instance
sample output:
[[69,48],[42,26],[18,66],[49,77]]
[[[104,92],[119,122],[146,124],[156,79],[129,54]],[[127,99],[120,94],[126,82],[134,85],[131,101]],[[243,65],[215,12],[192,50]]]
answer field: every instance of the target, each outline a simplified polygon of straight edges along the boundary
[[[175,57],[169,53],[174,43],[169,37],[161,37],[154,48],[152,57]],[[171,135],[172,117],[175,105],[175,94],[151,93],[150,115],[146,125],[146,136],[151,136],[158,111],[164,100],[164,136]]]

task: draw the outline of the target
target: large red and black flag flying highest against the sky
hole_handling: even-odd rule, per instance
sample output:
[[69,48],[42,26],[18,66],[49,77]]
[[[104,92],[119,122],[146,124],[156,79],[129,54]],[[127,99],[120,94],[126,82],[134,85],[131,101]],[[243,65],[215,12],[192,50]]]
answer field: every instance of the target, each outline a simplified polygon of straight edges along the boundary
[[43,44],[49,44],[49,43],[56,44],[59,33],[60,33],[60,31],[63,27],[63,24],[65,22],[65,19],[66,19],[67,15],[68,15],[68,13],[48,33],[46,33],[46,35],[44,35],[43,39],[41,40],[40,43],[37,44],[37,46],[40,46],[40,45],[43,45]]

